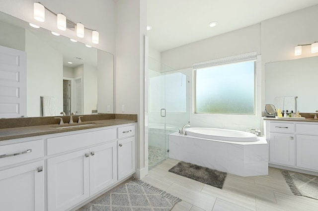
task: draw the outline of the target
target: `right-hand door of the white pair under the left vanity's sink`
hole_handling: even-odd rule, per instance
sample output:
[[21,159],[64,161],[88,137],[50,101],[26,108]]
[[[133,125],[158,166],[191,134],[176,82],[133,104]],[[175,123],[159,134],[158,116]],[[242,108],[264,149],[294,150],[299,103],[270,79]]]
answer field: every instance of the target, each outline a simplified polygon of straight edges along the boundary
[[90,195],[117,181],[117,142],[89,149]]

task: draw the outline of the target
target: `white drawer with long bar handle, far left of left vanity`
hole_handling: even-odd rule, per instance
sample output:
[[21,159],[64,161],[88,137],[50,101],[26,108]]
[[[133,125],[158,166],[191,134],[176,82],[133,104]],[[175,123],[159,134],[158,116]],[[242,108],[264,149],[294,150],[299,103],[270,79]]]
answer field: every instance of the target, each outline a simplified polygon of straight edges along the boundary
[[0,146],[0,167],[44,156],[43,139]]

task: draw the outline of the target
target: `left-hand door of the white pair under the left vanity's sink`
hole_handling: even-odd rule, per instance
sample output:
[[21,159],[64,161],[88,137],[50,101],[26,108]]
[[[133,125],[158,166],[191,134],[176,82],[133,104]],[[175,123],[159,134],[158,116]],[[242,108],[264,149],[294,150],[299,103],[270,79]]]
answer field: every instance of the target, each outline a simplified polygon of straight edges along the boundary
[[65,211],[89,197],[89,151],[47,159],[48,210]]

